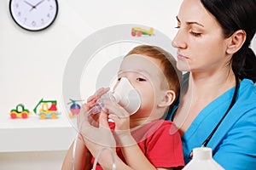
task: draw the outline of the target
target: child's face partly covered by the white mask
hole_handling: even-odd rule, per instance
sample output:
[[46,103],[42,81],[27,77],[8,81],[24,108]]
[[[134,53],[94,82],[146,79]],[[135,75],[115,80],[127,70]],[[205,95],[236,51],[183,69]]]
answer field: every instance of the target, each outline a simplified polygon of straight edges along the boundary
[[131,54],[123,59],[118,78],[121,77],[126,77],[141,96],[142,105],[137,116],[149,116],[168,87],[160,60],[141,54]]

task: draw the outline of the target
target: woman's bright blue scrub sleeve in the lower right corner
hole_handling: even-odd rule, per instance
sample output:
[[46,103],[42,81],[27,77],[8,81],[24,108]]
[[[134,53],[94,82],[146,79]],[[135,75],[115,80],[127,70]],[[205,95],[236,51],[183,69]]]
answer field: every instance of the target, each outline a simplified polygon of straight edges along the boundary
[[256,110],[248,111],[226,134],[213,159],[226,170],[256,169]]

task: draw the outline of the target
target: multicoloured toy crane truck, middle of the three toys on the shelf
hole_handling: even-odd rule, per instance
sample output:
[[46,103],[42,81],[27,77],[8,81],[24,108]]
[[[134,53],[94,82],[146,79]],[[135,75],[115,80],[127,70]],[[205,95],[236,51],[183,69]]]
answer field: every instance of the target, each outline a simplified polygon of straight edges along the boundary
[[[51,104],[50,107],[48,105],[49,103]],[[39,105],[41,105],[41,109],[37,113],[37,109],[38,109]],[[41,99],[33,111],[35,112],[35,114],[40,116],[41,119],[45,119],[45,118],[56,119],[61,114],[60,112],[57,111],[57,101],[56,100]]]

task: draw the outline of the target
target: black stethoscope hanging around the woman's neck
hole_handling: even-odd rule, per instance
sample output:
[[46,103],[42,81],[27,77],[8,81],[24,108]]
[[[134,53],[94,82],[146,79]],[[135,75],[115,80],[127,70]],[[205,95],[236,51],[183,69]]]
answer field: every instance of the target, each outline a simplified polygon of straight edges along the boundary
[[[214,127],[214,129],[212,130],[212,133],[210,133],[209,136],[207,137],[207,139],[201,144],[201,147],[207,147],[207,144],[212,139],[213,134],[217,131],[220,123],[223,122],[225,116],[228,115],[230,109],[233,107],[233,105],[235,105],[239,87],[240,87],[239,78],[236,76],[236,88],[235,88],[230,106],[229,106],[228,110],[225,112],[224,116],[220,119],[220,121],[218,122],[216,127]],[[192,158],[192,157],[193,157],[193,150],[191,150],[190,153],[189,153],[189,158]]]

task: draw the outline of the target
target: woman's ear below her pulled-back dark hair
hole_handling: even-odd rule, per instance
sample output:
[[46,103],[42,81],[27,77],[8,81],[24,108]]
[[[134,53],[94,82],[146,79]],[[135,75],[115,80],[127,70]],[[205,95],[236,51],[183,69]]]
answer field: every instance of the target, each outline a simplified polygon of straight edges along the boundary
[[247,38],[247,34],[243,30],[238,30],[234,32],[229,38],[228,38],[228,44],[227,44],[227,54],[235,54],[243,45]]

